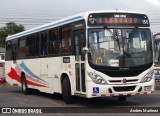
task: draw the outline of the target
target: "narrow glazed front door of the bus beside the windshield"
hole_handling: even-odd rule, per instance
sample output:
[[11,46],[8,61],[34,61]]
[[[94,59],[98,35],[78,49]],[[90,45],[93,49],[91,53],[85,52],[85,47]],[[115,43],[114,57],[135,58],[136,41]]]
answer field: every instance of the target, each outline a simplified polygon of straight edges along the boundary
[[85,94],[85,54],[82,53],[82,48],[85,46],[85,31],[76,30],[73,32],[74,35],[74,48],[75,48],[75,83],[76,92]]

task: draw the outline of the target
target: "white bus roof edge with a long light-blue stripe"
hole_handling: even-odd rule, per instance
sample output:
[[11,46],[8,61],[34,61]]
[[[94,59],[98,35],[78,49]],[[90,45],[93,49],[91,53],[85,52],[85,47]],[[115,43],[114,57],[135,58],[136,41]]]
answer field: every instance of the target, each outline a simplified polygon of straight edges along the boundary
[[80,14],[77,14],[77,15],[73,15],[73,16],[70,16],[68,18],[63,18],[63,19],[60,19],[60,20],[57,20],[57,21],[54,21],[54,22],[51,22],[51,23],[48,23],[48,24],[44,24],[42,26],[38,26],[38,27],[33,28],[33,29],[29,29],[29,30],[26,30],[26,31],[8,36],[6,38],[6,41],[12,40],[12,39],[15,39],[15,38],[20,38],[20,37],[23,37],[23,36],[26,36],[26,35],[29,35],[29,34],[33,34],[33,33],[36,33],[36,32],[44,31],[46,29],[54,28],[56,26],[61,26],[61,25],[71,23],[71,22],[74,22],[74,21],[87,19],[88,15],[90,13],[136,13],[136,14],[144,14],[144,13],[133,12],[133,11],[115,11],[115,10],[114,11],[113,10],[112,11],[107,11],[107,10],[87,11],[87,12],[83,12],[83,13],[80,13]]

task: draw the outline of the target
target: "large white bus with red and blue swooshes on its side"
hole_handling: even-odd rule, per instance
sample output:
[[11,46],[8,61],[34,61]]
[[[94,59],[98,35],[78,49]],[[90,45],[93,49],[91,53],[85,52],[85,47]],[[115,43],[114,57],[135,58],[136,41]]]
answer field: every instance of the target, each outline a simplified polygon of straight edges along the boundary
[[6,38],[6,80],[40,92],[117,97],[154,92],[153,39],[146,14],[87,11]]

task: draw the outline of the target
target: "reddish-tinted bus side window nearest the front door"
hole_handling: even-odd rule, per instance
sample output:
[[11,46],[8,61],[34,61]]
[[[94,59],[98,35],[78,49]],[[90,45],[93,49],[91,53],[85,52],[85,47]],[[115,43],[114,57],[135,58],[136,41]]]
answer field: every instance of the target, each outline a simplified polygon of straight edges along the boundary
[[71,53],[71,27],[64,26],[61,28],[61,52]]

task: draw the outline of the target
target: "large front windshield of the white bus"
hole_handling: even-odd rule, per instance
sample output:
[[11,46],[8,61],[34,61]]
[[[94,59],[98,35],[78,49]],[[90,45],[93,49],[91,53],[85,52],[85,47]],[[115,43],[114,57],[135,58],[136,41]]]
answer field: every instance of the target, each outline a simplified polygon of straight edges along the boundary
[[153,62],[149,29],[89,29],[89,61],[94,65],[135,67]]

